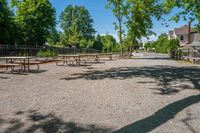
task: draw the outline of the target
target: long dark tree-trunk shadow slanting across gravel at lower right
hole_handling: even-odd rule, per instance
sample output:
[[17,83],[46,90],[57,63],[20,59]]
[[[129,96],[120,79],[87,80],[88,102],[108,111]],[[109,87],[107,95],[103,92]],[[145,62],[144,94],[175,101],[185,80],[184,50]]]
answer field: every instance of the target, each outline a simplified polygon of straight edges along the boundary
[[[113,133],[146,133],[173,119],[183,109],[200,102],[200,94],[184,98],[158,110],[149,117],[127,125]],[[196,132],[193,128],[190,130]]]

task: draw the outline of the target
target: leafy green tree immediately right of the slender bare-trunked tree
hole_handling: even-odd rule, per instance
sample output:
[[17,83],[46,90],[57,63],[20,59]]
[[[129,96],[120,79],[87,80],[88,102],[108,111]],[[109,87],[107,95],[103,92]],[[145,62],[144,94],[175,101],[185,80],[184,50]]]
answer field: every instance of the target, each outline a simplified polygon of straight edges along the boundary
[[152,17],[160,18],[162,9],[159,0],[129,0],[127,1],[127,29],[130,42],[129,53],[132,53],[132,47],[137,45],[142,37],[148,37],[155,34],[151,31],[153,27]]

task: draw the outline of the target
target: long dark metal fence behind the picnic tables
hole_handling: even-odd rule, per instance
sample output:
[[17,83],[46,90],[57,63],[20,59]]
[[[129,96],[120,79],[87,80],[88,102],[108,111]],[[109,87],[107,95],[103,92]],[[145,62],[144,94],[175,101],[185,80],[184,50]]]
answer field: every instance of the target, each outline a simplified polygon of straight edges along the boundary
[[9,46],[0,45],[0,56],[19,56],[29,55],[36,56],[39,51],[51,50],[57,54],[79,54],[79,53],[100,53],[101,51],[88,48],[88,49],[76,49],[67,47],[30,47],[30,46]]

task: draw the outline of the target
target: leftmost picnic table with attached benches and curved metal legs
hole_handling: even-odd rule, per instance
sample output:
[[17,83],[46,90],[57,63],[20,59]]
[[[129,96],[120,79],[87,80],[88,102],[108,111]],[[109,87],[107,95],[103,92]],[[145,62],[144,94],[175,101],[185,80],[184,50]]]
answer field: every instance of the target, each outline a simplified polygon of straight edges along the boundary
[[8,56],[8,57],[0,57],[0,59],[6,60],[6,64],[2,64],[1,66],[5,66],[6,69],[8,69],[8,67],[11,67],[12,71],[15,66],[22,66],[24,72],[26,68],[28,69],[29,72],[31,72],[30,65],[37,65],[37,71],[39,70],[39,62],[30,61],[32,57]]

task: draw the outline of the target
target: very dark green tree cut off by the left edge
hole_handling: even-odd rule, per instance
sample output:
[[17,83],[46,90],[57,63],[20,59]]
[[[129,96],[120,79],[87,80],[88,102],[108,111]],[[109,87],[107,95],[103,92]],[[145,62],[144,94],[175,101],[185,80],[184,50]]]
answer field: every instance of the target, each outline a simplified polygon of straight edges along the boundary
[[14,15],[8,7],[6,0],[0,1],[0,44],[14,44],[15,24]]

